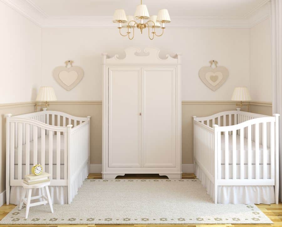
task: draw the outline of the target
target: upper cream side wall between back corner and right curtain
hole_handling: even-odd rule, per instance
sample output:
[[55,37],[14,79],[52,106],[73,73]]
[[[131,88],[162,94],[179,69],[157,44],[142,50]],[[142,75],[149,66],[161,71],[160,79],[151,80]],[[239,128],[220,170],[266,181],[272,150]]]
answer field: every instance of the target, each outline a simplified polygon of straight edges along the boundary
[[270,18],[250,29],[250,70],[252,99],[272,101]]

